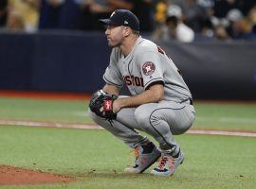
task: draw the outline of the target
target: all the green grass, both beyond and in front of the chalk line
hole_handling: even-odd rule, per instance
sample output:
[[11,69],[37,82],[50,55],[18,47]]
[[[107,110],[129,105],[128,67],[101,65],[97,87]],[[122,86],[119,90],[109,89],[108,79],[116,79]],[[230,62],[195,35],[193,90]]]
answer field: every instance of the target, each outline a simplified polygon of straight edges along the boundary
[[[0,120],[93,123],[88,103],[0,97]],[[256,130],[256,105],[195,102],[193,129]],[[255,188],[255,138],[176,136],[186,161],[170,178],[123,173],[129,148],[105,130],[0,126],[0,164],[72,176],[64,184],[0,188]]]

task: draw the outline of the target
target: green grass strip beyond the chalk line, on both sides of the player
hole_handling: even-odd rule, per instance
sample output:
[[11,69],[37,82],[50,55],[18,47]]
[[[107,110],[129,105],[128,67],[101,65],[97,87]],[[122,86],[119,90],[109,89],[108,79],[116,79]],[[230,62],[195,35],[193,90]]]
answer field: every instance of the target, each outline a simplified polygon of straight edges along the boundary
[[[88,102],[0,97],[0,119],[93,123]],[[242,129],[256,131],[256,104],[195,102],[193,129]]]

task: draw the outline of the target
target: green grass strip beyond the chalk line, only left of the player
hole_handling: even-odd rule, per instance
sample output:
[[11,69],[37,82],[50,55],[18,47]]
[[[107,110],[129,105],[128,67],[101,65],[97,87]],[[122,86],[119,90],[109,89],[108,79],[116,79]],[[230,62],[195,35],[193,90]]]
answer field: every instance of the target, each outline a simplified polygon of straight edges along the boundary
[[0,97],[0,119],[93,123],[82,100],[39,100]]

